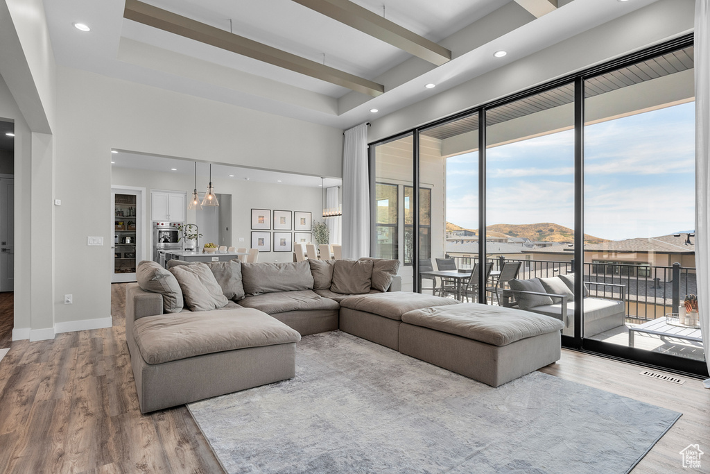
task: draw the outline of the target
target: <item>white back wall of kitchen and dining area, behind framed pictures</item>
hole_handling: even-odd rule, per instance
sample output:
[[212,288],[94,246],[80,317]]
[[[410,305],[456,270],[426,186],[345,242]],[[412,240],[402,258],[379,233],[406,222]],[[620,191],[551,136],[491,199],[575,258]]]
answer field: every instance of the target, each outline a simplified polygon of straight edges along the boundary
[[[192,176],[176,173],[157,173],[151,171],[138,171],[131,168],[119,168],[114,166],[111,170],[112,185],[136,186],[146,188],[150,197],[151,189],[188,191],[194,185]],[[242,179],[220,179],[217,181],[212,177],[212,184],[215,192],[219,194],[231,195],[231,244],[234,247],[251,247],[251,209],[271,209],[273,210],[297,210],[310,211],[313,220],[321,219],[322,197],[321,188],[305,188],[300,186],[290,186],[272,183],[257,183],[256,181],[244,181]],[[198,182],[198,185],[200,183]],[[206,187],[207,183],[204,183]],[[199,189],[198,189],[199,190]],[[189,197],[189,196],[188,196]],[[197,222],[197,213],[202,211],[187,211],[187,222]],[[148,199],[146,203],[146,249],[145,259],[151,259],[151,228],[149,225],[151,215],[151,203]],[[202,230],[200,230],[202,233]],[[273,238],[273,230],[272,238]],[[279,231],[280,232],[280,231]],[[288,231],[283,231],[288,232]],[[293,234],[293,230],[291,230]],[[113,238],[113,237],[111,237]],[[208,242],[207,236],[200,239],[200,244]],[[244,242],[239,242],[243,238]],[[213,239],[213,242],[217,242]],[[263,252],[259,254],[259,262],[291,262],[292,254],[287,252]],[[111,262],[113,264],[113,262]]]

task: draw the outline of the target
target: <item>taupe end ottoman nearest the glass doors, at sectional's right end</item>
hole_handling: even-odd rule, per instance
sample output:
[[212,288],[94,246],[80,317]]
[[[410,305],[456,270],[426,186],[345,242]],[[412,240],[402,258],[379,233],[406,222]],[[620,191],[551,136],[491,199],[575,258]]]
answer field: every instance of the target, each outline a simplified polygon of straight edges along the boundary
[[559,319],[513,308],[462,303],[402,315],[399,350],[498,387],[556,362]]

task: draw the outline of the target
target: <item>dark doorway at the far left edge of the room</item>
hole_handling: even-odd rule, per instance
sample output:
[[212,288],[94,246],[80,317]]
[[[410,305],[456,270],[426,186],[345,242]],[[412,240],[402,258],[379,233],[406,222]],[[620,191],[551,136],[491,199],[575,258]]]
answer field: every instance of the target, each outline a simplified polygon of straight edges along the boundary
[[0,350],[9,348],[14,325],[15,125],[0,122]]

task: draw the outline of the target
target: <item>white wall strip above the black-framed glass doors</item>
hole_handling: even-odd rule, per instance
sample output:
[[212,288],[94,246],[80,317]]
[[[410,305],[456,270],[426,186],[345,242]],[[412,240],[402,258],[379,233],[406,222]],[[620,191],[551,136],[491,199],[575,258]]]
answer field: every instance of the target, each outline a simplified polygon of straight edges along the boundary
[[694,0],[660,0],[428,99],[371,120],[377,141],[693,29]]

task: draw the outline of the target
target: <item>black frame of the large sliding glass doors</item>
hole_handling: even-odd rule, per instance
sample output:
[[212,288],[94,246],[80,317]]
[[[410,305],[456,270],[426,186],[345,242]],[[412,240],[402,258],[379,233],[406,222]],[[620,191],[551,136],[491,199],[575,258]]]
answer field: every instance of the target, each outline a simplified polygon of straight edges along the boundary
[[[374,141],[369,144],[368,157],[370,166],[370,193],[371,193],[371,216],[376,215],[376,202],[374,199],[375,189],[375,148],[376,146],[386,144],[389,141],[401,139],[405,136],[413,134],[413,181],[414,181],[414,202],[413,202],[413,217],[415,219],[415,229],[419,228],[419,168],[420,168],[420,151],[419,151],[419,136],[422,131],[432,129],[449,122],[455,122],[458,119],[470,117],[473,114],[479,115],[479,262],[481,256],[485,258],[485,242],[486,242],[486,111],[499,107],[510,102],[515,102],[532,95],[537,95],[547,90],[555,89],[561,85],[574,83],[574,294],[581,295],[584,291],[584,85],[586,78],[611,72],[619,68],[623,68],[634,63],[639,63],[643,60],[655,58],[658,55],[670,53],[673,50],[679,50],[687,46],[693,45],[693,34],[689,33],[674,40],[667,41],[660,45],[655,45],[650,48],[645,48],[635,53],[611,60],[602,65],[594,66],[587,70],[577,72],[572,75],[560,77],[557,80],[547,82],[544,85],[533,87],[532,89],[524,90],[508,97],[503,97],[488,104],[481,104],[477,107],[472,107],[459,114],[439,119],[435,122],[430,122],[422,126],[405,131],[401,134]],[[374,220],[371,230],[375,228]],[[415,275],[415,291],[421,291],[420,281],[418,278],[418,262],[419,262],[419,232],[414,232],[415,247],[413,249],[414,262],[413,270]],[[371,232],[371,249],[375,249],[376,236]],[[373,252],[373,250],[371,251]],[[578,263],[579,262],[579,263]],[[479,272],[479,301],[485,302],[486,285],[484,280],[484,272]],[[649,367],[661,367],[665,370],[687,374],[691,376],[707,377],[708,370],[704,361],[692,360],[674,355],[662,354],[660,352],[651,352],[639,348],[630,348],[624,345],[606,343],[600,340],[593,340],[582,337],[582,324],[584,314],[584,298],[579,298],[581,304],[575,304],[574,309],[574,336],[562,335],[562,347],[581,352],[591,352],[603,357],[611,357],[618,360],[634,362],[638,365]],[[709,357],[709,355],[706,355]]]

